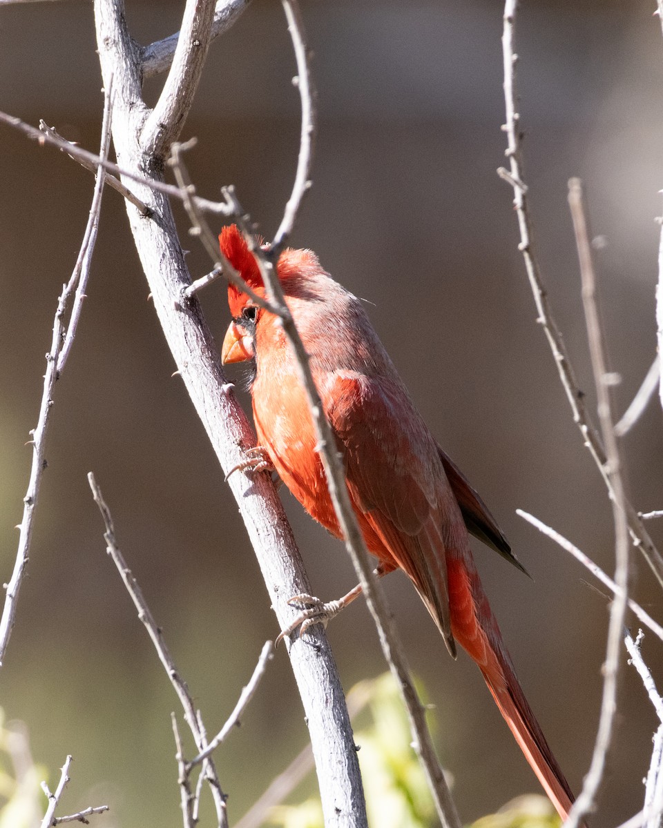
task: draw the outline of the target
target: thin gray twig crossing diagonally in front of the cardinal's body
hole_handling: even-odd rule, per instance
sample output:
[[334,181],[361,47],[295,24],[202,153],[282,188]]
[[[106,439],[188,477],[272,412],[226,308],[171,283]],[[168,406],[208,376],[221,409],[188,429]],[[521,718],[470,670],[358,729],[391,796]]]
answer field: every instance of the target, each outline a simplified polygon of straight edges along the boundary
[[373,572],[369,553],[366,550],[364,537],[361,534],[357,517],[352,508],[350,495],[346,486],[345,469],[341,462],[341,456],[336,449],[336,439],[332,427],[327,421],[322,401],[313,382],[311,368],[308,363],[308,354],[302,339],[298,334],[297,327],[283,296],[283,288],[278,282],[276,274],[275,250],[270,248],[264,250],[256,243],[251,232],[249,220],[241,208],[234,191],[229,188],[224,190],[229,203],[234,206],[234,213],[238,217],[237,224],[242,229],[249,248],[253,250],[258,262],[260,274],[263,278],[267,297],[274,306],[281,306],[283,309],[280,320],[283,331],[293,349],[295,361],[298,366],[299,378],[307,395],[309,410],[312,414],[313,426],[316,430],[317,449],[319,450],[322,466],[325,470],[327,487],[329,489],[342,537],[346,542],[346,550],[350,554],[351,561],[355,567],[356,574],[360,580],[361,588],[364,591],[366,603],[370,614],[375,621],[375,627],[380,638],[380,645],[385,659],[390,666],[399,690],[403,696],[404,704],[408,712],[410,729],[412,730],[414,750],[422,763],[428,786],[430,787],[440,821],[445,828],[460,828],[460,819],[456,806],[452,800],[447,781],[444,778],[438,757],[433,747],[428,724],[426,723],[425,710],[414,682],[409,675],[409,667],[405,657],[404,649],[400,643],[397,630],[394,626],[391,614],[387,609],[385,593]]

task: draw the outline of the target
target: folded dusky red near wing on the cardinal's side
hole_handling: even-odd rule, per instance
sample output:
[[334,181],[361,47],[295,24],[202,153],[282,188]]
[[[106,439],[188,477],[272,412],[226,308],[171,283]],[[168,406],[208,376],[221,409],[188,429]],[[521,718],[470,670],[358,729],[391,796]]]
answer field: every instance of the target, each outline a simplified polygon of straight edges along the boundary
[[[414,582],[455,656],[445,551],[467,532],[427,426],[399,383],[338,373],[323,392],[371,549]],[[375,540],[374,540],[375,542]]]

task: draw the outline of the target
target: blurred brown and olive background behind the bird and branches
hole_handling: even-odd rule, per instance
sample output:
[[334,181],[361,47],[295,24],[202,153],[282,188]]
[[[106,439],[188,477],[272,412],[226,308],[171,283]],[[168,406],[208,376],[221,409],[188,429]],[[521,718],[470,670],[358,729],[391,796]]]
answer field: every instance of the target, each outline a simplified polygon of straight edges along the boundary
[[[133,36],[179,28],[181,2],[128,2]],[[517,51],[525,165],[536,241],[557,320],[594,410],[567,181],[588,190],[617,414],[656,352],[663,40],[655,3],[531,0]],[[534,580],[477,545],[477,561],[530,703],[578,791],[598,722],[608,602],[564,552],[515,515],[524,508],[607,570],[610,505],[569,413],[525,279],[504,164],[502,5],[492,0],[303,2],[320,123],[294,234],[358,296],[438,436]],[[254,0],[210,59],[183,138],[201,195],[236,185],[264,233],[293,181],[299,104],[280,4]],[[156,99],[162,79],[148,84]],[[89,2],[0,8],[0,108],[96,151],[102,95]],[[8,580],[27,489],[44,354],[56,298],[80,247],[90,173],[18,132],[0,131],[0,566]],[[209,270],[186,237],[193,277]],[[108,801],[106,828],[181,824],[169,720],[172,687],[104,551],[85,474],[94,470],[123,553],[213,731],[266,638],[278,633],[244,527],[177,378],[119,196],[104,195],[75,347],[56,388],[17,626],[0,704],[27,722],[55,783],[73,753],[70,810]],[[215,336],[225,288],[202,296]],[[248,400],[245,400],[248,403]],[[661,408],[622,440],[636,508],[663,506]],[[283,491],[312,585],[335,598],[355,575],[340,543]],[[659,542],[661,526],[651,525]],[[654,616],[661,592],[634,553],[633,590]],[[385,581],[411,667],[428,689],[438,751],[463,821],[539,786],[482,678],[448,657],[399,574]],[[328,630],[346,688],[385,670],[365,605]],[[660,643],[643,654],[660,686]],[[624,670],[617,733],[595,824],[641,807],[656,720]],[[282,648],[242,728],[218,752],[231,821],[307,740]],[[311,780],[309,789],[314,791]]]

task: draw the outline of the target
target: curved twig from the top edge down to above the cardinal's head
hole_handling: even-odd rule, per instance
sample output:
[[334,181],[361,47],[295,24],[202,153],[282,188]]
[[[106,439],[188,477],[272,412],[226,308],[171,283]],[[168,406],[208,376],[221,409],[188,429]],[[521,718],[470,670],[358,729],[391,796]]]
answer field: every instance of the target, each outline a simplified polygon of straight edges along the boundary
[[311,70],[308,65],[308,49],[302,17],[297,0],[281,0],[283,11],[288,19],[288,31],[293,41],[295,60],[297,60],[297,87],[302,103],[302,128],[299,136],[299,155],[297,173],[293,184],[293,192],[285,205],[283,219],[273,238],[272,246],[280,251],[288,242],[290,233],[302,199],[311,189],[311,166],[313,156],[313,141],[316,132],[316,92],[313,88]]

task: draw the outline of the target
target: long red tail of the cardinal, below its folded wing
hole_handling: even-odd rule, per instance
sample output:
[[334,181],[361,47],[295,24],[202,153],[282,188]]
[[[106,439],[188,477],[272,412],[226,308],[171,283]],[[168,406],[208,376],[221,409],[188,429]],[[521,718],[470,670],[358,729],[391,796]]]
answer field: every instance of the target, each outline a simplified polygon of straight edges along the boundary
[[452,633],[477,662],[515,741],[564,820],[573,805],[573,793],[515,676],[472,559],[448,557],[448,581]]

